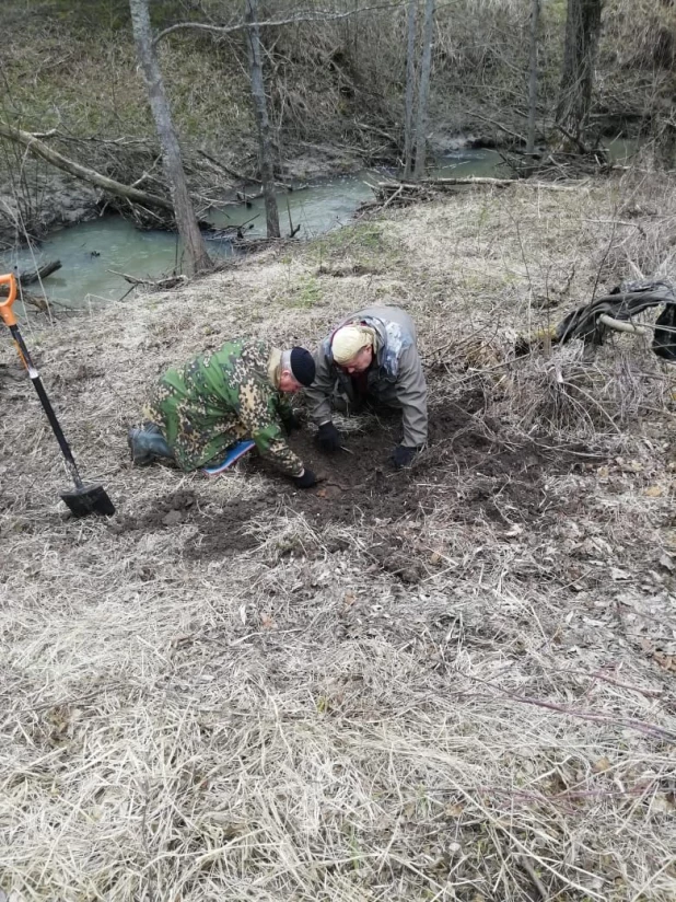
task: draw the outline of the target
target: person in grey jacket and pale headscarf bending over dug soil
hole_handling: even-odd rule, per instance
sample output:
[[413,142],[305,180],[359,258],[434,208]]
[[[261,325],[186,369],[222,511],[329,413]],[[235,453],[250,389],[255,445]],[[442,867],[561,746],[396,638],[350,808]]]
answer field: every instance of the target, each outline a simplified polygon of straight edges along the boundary
[[428,390],[408,313],[397,307],[351,313],[319,345],[315,370],[305,395],[324,451],[341,446],[331,403],[350,413],[369,401],[401,409],[404,437],[392,459],[397,467],[411,463],[428,438]]

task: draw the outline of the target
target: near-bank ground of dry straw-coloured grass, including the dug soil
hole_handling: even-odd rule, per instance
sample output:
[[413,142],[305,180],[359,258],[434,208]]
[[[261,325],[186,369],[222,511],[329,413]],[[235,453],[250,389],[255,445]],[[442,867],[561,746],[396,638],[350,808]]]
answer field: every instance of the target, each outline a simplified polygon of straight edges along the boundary
[[[649,338],[516,359],[674,276],[673,185],[387,209],[171,293],[25,323],[88,481],[0,348],[0,888],[23,900],[673,900],[673,374]],[[148,386],[232,335],[413,315],[431,440],[339,420],[294,490],[136,470]],[[649,331],[650,332],[650,331]]]

